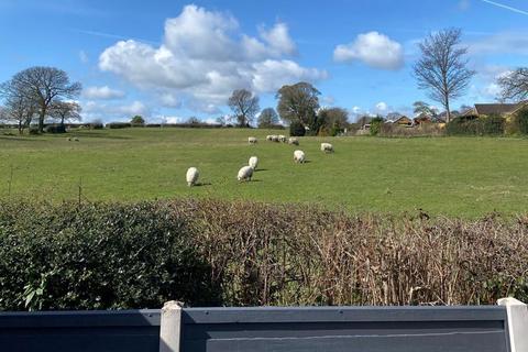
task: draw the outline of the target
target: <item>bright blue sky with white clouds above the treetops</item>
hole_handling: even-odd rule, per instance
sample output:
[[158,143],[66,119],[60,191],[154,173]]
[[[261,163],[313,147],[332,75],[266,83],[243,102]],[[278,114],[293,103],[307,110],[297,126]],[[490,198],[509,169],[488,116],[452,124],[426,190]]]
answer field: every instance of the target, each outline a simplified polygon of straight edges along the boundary
[[417,43],[462,29],[476,72],[452,103],[493,102],[496,78],[528,65],[526,0],[0,0],[0,81],[55,66],[82,84],[84,121],[204,121],[229,114],[234,89],[276,107],[309,81],[351,120],[437,102],[417,88]]

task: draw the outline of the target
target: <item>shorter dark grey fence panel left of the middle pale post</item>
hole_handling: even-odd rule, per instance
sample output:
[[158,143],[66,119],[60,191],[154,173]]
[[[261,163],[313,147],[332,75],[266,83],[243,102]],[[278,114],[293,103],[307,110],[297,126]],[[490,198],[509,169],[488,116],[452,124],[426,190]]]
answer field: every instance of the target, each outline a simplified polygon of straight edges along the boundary
[[160,310],[0,314],[0,351],[158,352]]

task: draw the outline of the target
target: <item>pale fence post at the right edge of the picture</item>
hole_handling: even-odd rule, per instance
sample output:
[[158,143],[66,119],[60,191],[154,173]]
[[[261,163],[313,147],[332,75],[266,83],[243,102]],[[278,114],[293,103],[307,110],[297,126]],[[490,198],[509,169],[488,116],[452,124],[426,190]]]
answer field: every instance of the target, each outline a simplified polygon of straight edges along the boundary
[[506,307],[512,352],[528,352],[528,306],[513,297],[501,298],[497,305]]

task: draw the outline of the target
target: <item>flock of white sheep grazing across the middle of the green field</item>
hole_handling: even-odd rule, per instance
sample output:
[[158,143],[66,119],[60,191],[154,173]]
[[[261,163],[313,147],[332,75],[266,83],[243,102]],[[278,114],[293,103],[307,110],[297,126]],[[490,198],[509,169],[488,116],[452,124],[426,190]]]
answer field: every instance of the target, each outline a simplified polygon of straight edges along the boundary
[[[283,142],[283,143],[288,143],[293,145],[299,145],[299,140],[295,136],[286,138],[285,135],[282,135],[282,134],[280,135],[270,134],[266,136],[266,140],[270,142]],[[248,138],[248,142],[250,144],[256,144],[258,141],[256,138],[250,136]],[[330,143],[321,143],[321,152],[333,153],[333,145]],[[305,152],[300,150],[294,151],[294,162],[304,164],[306,162]],[[256,169],[257,165],[258,165],[258,157],[251,156],[248,162],[248,165],[242,166],[242,168],[239,169],[237,179],[239,182],[251,180],[251,177],[253,176],[253,173]],[[195,186],[198,182],[198,177],[200,177],[200,173],[198,172],[198,168],[189,167],[186,174],[187,186],[189,187]]]

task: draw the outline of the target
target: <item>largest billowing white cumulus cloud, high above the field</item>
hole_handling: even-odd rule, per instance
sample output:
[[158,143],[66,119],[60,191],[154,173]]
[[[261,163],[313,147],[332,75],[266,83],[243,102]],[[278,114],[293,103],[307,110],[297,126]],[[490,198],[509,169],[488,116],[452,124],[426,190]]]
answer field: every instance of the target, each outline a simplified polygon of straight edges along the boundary
[[[258,36],[241,33],[229,13],[186,6],[165,22],[160,46],[120,41],[99,57],[99,67],[142,88],[164,89],[175,101],[218,112],[234,89],[272,92],[299,80],[315,82],[324,70],[293,61],[296,45],[285,23],[260,28]],[[168,97],[167,96],[167,97]]]

